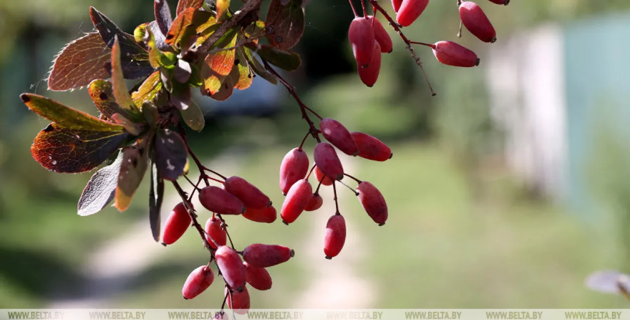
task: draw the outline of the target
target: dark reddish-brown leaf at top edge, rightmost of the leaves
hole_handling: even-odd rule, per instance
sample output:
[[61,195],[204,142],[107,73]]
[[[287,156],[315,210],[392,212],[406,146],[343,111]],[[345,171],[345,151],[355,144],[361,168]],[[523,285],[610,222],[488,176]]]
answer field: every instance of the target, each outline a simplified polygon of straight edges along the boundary
[[280,0],[272,0],[265,25],[269,43],[280,49],[291,49],[304,33],[304,8],[299,1],[283,6]]

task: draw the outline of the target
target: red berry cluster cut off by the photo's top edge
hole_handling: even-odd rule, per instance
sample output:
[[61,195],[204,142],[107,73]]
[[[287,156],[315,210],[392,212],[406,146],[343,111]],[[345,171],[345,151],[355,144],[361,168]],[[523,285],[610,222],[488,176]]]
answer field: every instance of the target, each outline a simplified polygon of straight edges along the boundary
[[[370,0],[366,0],[370,1]],[[490,0],[492,3],[507,5],[510,0]],[[371,2],[371,1],[370,1]],[[479,66],[478,56],[471,50],[452,41],[440,41],[434,44],[413,42],[407,40],[401,32],[401,28],[410,26],[425,11],[429,0],[392,0],[392,6],[396,11],[396,23],[383,11],[394,30],[403,37],[409,46],[413,44],[425,45],[433,49],[433,55],[442,64],[455,67]],[[472,1],[457,1],[459,16],[462,25],[466,26],[475,37],[483,42],[494,43],[496,41],[495,28],[490,23],[488,16],[481,7]],[[352,5],[352,3],[351,3]],[[382,11],[382,8],[379,7]],[[354,10],[354,8],[353,8]],[[376,11],[376,7],[374,7]],[[461,32],[460,32],[461,34]],[[357,60],[357,71],[361,81],[366,86],[374,86],[379,78],[381,69],[381,53],[392,51],[392,40],[381,22],[368,16],[364,8],[364,17],[357,16],[350,23],[348,39],[352,46],[352,52]],[[411,50],[411,47],[410,47]]]

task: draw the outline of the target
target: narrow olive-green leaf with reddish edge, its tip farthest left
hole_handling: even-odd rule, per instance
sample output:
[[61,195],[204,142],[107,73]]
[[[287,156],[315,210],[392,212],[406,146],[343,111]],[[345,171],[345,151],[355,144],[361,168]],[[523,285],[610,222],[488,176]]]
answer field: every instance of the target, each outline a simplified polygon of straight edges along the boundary
[[22,101],[41,117],[55,122],[57,127],[72,130],[122,132],[122,125],[106,122],[44,96],[31,93],[20,95]]

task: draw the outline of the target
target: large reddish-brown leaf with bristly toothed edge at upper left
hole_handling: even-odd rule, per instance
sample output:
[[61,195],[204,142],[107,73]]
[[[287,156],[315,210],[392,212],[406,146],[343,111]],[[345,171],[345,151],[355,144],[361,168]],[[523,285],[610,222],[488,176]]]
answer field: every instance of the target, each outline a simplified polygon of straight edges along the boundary
[[61,50],[48,77],[48,88],[64,91],[80,88],[94,79],[107,78],[110,48],[98,33],[88,33]]

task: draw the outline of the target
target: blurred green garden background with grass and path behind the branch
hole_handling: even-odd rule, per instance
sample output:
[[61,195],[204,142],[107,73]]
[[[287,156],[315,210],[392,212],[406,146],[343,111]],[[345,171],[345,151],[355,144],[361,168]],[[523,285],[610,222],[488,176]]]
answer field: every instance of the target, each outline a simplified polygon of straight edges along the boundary
[[[546,23],[580,30],[614,17],[630,25],[626,0],[512,0],[507,7],[478,3],[498,31],[497,45]],[[20,93],[45,94],[96,111],[85,90],[53,93],[45,84],[64,43],[92,30],[89,6],[127,31],[152,20],[150,0],[0,2],[0,308],[218,307],[221,280],[196,299],[181,299],[185,278],[207,262],[207,254],[195,232],[168,248],[152,241],[146,183],[127,212],[108,208],[79,217],[76,202],[90,174],[49,173],[30,156],[32,139],[47,121],[27,110]],[[455,0],[433,0],[404,31],[423,42],[455,40],[458,19]],[[326,219],[334,212],[328,189],[323,209],[305,212],[290,227],[279,220],[263,225],[229,219],[239,248],[277,243],[297,251],[289,263],[270,268],[272,290],[250,291],[252,307],[626,307],[621,297],[589,291],[583,279],[601,268],[630,271],[630,149],[627,135],[608,130],[605,120],[623,114],[627,99],[621,105],[597,100],[597,112],[608,116],[598,120],[600,125],[585,124],[592,125],[587,139],[597,149],[576,155],[584,163],[576,170],[590,177],[582,187],[594,199],[581,210],[580,203],[541,195],[507,166],[504,132],[491,117],[484,80],[483,62],[491,45],[466,31],[457,40],[481,57],[481,66],[474,69],[439,65],[430,50],[416,48],[438,92],[432,98],[392,32],[394,52],[384,55],[378,83],[366,88],[355,74],[347,42],[350,20],[347,3],[311,1],[306,32],[296,47],[304,65],[287,77],[319,114],[391,146],[394,157],[385,163],[342,158],[353,176],[382,191],[389,220],[377,227],[352,193],[340,190],[348,243],[329,261],[321,251]],[[597,52],[616,50],[614,43],[626,41],[600,39],[595,33],[592,41],[581,42],[590,50],[584,49],[580,63],[595,63]],[[586,67],[566,61],[568,69]],[[627,81],[618,84],[627,88]],[[255,87],[226,103],[199,101],[207,126],[190,138],[210,168],[255,183],[279,209],[280,161],[307,127],[284,88]],[[567,92],[571,110],[571,101],[580,96]],[[307,143],[307,149],[312,146]],[[163,217],[176,203],[172,188],[168,192]],[[207,212],[202,212],[200,220],[205,219]]]

